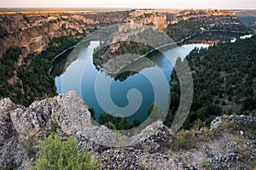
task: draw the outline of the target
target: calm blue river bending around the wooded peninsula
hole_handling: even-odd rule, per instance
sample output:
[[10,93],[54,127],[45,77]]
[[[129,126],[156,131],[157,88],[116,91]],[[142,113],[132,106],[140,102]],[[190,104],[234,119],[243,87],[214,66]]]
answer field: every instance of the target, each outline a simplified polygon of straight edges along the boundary
[[[134,64],[137,65],[138,69],[136,73],[126,72],[124,75],[114,78],[103,71],[98,71],[93,64],[93,49],[98,47],[99,44],[100,42],[90,42],[88,47],[80,50],[78,58],[67,66],[65,72],[55,77],[57,93],[67,93],[70,90],[76,91],[88,107],[95,109],[96,117],[104,111],[102,106],[104,108],[107,107],[105,111],[111,111],[116,115],[134,113],[128,116],[129,121],[135,118],[144,121],[148,116],[148,107],[155,102],[156,95],[160,94],[160,98],[157,100],[160,109],[165,110],[169,106],[168,92],[166,93],[165,89],[160,88],[158,89],[158,94],[155,94],[155,85],[152,84],[152,82],[161,83],[159,72],[157,71],[157,69],[160,69],[170,89],[169,82],[171,81],[170,76],[173,65],[168,57],[179,56],[183,59],[192,49],[207,48],[209,46],[208,44],[189,44],[172,48],[164,54],[157,54],[152,57],[152,60],[154,60],[153,65],[148,60],[139,60]],[[137,92],[134,93],[138,96],[133,96],[129,100],[128,94],[134,89],[139,91],[139,94]],[[142,98],[141,101],[140,98]],[[138,103],[140,105],[137,105]],[[112,105],[115,106],[113,107]],[[129,105],[132,107],[129,107]]]

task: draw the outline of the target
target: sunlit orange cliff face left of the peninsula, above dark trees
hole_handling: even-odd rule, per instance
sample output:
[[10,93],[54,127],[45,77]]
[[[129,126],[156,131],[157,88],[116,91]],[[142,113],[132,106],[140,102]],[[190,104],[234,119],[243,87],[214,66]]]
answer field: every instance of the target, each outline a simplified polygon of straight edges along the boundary
[[[0,57],[9,48],[22,48],[21,57],[40,53],[54,37],[80,37],[90,29],[122,21],[126,12],[56,12],[0,14]],[[20,59],[21,61],[22,59]]]

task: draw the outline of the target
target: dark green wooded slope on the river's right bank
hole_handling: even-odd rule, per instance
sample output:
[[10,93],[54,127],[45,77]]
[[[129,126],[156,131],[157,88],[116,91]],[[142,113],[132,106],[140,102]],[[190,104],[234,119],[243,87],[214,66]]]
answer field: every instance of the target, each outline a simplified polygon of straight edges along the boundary
[[[215,116],[255,116],[256,37],[195,48],[187,57],[194,81],[194,99],[183,128],[210,126]],[[178,63],[177,63],[178,65]],[[172,72],[171,105],[166,126],[171,126],[179,102],[179,82]]]

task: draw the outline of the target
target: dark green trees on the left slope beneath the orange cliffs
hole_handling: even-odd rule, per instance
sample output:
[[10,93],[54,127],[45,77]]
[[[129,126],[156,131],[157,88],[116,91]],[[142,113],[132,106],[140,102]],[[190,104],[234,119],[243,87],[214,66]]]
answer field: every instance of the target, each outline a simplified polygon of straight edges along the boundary
[[[41,54],[30,54],[22,65],[17,65],[21,53],[19,48],[10,48],[0,59],[0,96],[8,96],[13,102],[30,105],[35,99],[56,94],[55,81],[49,73],[52,60],[61,51],[77,43],[72,37],[58,37],[49,42],[49,47]],[[14,77],[16,82],[7,82]]]

